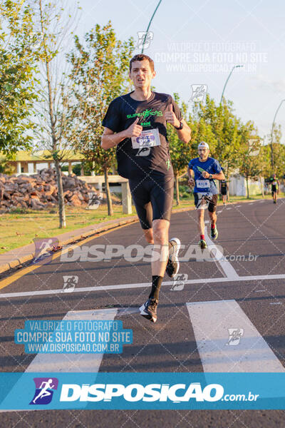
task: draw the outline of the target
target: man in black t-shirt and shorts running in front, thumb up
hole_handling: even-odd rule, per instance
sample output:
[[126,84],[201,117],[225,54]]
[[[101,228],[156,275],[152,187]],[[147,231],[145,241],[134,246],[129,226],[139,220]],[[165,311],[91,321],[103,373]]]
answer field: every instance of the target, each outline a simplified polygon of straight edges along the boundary
[[[177,129],[181,141],[188,143],[191,130],[182,119],[180,108],[170,95],[152,92],[154,63],[149,56],[130,60],[130,79],[135,91],[115,98],[103,119],[102,147],[116,147],[118,173],[129,179],[130,191],[147,243],[158,253],[152,258],[152,289],[141,315],[155,322],[165,269],[173,277],[179,269],[180,240],[168,243],[173,198],[173,169],[170,161],[166,123]],[[170,249],[170,251],[169,251]]]

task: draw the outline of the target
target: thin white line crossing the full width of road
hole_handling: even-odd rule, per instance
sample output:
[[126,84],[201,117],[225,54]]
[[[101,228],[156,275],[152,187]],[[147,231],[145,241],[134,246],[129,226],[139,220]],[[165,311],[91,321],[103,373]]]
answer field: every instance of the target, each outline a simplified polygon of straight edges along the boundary
[[[195,280],[186,280],[185,284],[209,284],[218,282],[247,282],[247,281],[262,281],[262,280],[285,280],[285,274],[281,275],[254,275],[254,276],[237,276],[235,278],[229,277],[217,277],[217,278],[200,278]],[[173,285],[173,281],[162,282],[162,286]],[[98,287],[78,287],[73,290],[72,293],[65,293],[65,295],[71,296],[74,292],[93,292],[93,291],[108,291],[108,290],[127,290],[129,288],[144,288],[150,287],[150,282],[140,282],[138,284],[120,284],[120,285],[102,285]],[[11,297],[28,297],[28,296],[41,296],[41,295],[63,295],[62,288],[58,290],[36,290],[36,291],[24,291],[24,292],[7,292],[0,294],[0,299],[9,299]]]

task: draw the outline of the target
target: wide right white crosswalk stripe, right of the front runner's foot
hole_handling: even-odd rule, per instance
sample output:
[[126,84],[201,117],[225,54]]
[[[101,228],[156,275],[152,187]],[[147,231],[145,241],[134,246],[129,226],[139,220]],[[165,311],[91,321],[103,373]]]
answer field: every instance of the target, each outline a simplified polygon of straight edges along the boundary
[[[204,372],[285,372],[235,300],[186,305]],[[228,329],[234,329],[240,341],[230,340]]]

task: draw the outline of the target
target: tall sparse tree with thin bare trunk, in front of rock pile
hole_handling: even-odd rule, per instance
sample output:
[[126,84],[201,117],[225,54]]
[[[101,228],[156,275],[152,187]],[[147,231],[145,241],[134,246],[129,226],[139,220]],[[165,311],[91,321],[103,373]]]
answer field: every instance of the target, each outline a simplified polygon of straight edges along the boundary
[[[38,92],[41,97],[36,104],[37,120],[35,134],[40,146],[46,149],[46,158],[53,158],[58,185],[59,228],[66,227],[66,211],[63,195],[61,164],[68,151],[66,138],[68,120],[66,117],[66,96],[71,88],[64,61],[65,46],[76,23],[76,12],[68,14],[68,3],[65,1],[33,0],[36,7],[34,26],[39,29],[41,43],[38,46],[38,57],[41,66],[41,81]],[[74,5],[73,5],[74,6]],[[77,10],[76,10],[77,11]]]

